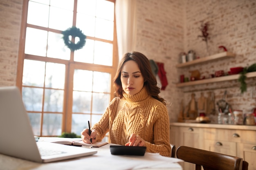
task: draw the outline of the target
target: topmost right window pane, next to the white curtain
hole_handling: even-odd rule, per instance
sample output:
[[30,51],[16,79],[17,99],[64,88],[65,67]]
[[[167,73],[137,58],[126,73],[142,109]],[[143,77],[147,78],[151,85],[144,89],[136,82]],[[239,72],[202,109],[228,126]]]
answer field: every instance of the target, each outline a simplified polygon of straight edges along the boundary
[[96,17],[114,21],[114,3],[106,0],[98,0]]

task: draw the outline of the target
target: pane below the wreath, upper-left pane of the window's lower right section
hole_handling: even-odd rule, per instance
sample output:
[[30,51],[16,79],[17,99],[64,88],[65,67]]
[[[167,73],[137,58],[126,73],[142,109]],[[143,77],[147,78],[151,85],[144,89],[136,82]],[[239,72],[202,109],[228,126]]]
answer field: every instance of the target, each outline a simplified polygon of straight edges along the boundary
[[74,85],[75,91],[92,91],[92,71],[78,70],[74,71]]

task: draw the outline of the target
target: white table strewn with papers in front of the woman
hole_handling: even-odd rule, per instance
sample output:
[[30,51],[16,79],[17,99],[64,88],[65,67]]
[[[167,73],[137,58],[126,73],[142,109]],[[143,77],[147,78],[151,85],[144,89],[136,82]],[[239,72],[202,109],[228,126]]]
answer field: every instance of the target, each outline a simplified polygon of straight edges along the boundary
[[110,145],[93,148],[98,150],[95,155],[53,163],[36,163],[0,154],[0,170],[182,170],[177,163],[179,159],[147,152],[144,156],[111,155]]

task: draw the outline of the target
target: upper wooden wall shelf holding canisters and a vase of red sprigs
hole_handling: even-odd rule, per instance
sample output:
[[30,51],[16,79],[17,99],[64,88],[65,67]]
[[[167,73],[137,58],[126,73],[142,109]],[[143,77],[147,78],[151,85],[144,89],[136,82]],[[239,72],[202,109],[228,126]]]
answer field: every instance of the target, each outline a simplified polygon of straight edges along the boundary
[[220,58],[235,57],[235,56],[236,56],[236,54],[225,51],[225,52],[222,52],[222,53],[218,53],[218,54],[210,55],[210,56],[207,56],[207,57],[195,59],[191,62],[185,62],[185,63],[177,64],[176,67],[178,67],[178,68],[186,67],[186,66],[191,66],[191,65],[194,65],[194,64],[202,63],[202,62],[208,62],[208,61],[217,60],[217,59],[220,59]]

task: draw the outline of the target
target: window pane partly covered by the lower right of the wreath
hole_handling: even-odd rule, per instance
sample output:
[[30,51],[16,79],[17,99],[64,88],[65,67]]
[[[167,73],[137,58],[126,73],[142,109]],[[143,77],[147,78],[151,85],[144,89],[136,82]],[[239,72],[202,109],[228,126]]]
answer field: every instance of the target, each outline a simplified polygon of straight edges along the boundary
[[74,61],[93,63],[94,40],[87,39],[83,49],[74,51]]

